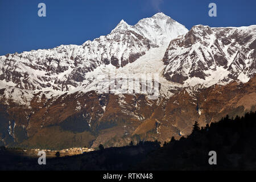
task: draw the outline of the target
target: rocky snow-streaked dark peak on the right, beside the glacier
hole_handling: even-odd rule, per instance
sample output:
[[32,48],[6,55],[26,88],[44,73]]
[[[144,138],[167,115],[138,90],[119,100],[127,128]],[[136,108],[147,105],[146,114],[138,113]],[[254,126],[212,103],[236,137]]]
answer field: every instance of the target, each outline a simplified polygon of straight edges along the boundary
[[256,26],[210,28],[194,26],[170,42],[163,57],[164,77],[179,84],[197,79],[248,81],[255,74]]

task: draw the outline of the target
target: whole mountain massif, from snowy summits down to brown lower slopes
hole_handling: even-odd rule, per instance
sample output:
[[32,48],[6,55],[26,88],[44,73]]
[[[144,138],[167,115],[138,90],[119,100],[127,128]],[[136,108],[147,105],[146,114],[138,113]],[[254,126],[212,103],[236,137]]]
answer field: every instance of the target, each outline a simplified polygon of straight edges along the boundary
[[[190,31],[162,13],[81,46],[0,57],[0,145],[62,149],[170,140],[255,110],[255,26]],[[99,77],[117,73],[114,93]],[[131,75],[159,76],[150,100]],[[115,86],[118,88],[118,86]],[[147,86],[147,90],[150,90]]]

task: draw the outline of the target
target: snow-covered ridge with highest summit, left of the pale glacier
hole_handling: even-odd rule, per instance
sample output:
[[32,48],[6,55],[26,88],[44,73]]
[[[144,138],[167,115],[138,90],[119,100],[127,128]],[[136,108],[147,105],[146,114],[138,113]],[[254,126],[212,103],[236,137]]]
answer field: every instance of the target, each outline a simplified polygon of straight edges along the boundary
[[[86,77],[97,67],[124,67],[149,49],[166,46],[171,39],[188,30],[163,13],[130,26],[124,20],[106,36],[86,41],[81,46],[68,45],[39,49],[0,57],[2,87],[27,90],[60,90],[62,93],[92,80]],[[159,61],[162,57],[159,57]],[[89,80],[88,80],[89,79]]]

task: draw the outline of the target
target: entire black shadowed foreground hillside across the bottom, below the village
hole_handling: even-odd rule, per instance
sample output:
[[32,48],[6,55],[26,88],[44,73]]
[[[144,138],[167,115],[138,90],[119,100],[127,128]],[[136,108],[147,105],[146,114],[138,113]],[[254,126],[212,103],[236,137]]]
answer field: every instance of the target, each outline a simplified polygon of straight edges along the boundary
[[[16,156],[1,148],[0,169],[21,170],[236,170],[256,169],[256,113],[211,123],[204,128],[197,122],[192,134],[165,142],[130,143],[125,147],[100,147],[100,150],[75,156],[47,159],[38,165],[37,158]],[[210,165],[209,151],[216,151],[217,165]]]

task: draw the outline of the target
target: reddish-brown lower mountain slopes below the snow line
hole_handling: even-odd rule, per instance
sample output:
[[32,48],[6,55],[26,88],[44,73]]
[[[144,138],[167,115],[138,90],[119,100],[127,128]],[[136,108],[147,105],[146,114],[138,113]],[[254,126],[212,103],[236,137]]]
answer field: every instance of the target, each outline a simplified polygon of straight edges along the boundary
[[[35,94],[30,106],[1,101],[1,140],[9,146],[67,148],[123,146],[131,140],[168,141],[189,135],[192,125],[255,111],[256,79],[245,84],[184,88],[170,98],[141,94]],[[3,92],[3,90],[2,90]]]

